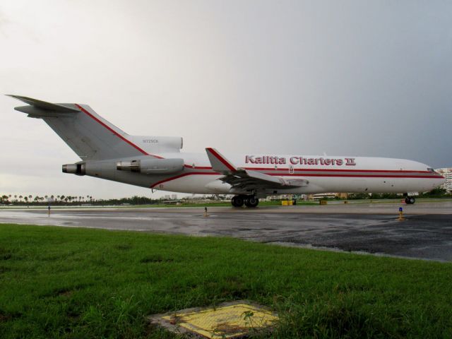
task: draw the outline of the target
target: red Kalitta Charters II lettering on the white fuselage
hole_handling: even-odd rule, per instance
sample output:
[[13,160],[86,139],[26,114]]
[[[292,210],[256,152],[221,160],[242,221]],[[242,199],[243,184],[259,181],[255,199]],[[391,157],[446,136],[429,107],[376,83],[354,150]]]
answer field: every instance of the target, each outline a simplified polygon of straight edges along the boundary
[[[287,160],[288,159],[288,160]],[[246,164],[273,164],[273,165],[321,165],[321,166],[356,166],[355,157],[340,159],[330,157],[278,157],[273,155],[246,155]]]

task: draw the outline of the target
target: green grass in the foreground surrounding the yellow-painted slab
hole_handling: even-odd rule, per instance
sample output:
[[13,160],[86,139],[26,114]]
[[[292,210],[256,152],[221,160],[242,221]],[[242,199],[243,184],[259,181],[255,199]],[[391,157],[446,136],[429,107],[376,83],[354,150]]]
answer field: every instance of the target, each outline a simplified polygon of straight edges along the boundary
[[0,338],[173,338],[145,316],[234,299],[278,311],[275,338],[447,338],[451,276],[239,239],[0,225]]

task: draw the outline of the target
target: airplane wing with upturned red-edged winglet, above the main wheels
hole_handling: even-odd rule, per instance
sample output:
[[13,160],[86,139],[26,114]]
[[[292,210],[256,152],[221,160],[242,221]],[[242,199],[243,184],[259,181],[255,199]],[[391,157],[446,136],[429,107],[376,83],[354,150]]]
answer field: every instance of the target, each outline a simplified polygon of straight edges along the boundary
[[232,189],[239,191],[294,189],[309,184],[307,179],[284,179],[275,175],[235,167],[215,148],[206,148],[206,152],[212,169],[224,174],[224,177],[221,177],[220,180],[230,184]]

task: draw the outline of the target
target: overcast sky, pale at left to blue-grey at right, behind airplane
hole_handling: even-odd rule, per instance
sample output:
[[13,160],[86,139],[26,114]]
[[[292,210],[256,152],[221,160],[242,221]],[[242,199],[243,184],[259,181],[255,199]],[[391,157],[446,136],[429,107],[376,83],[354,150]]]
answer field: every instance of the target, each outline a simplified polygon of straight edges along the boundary
[[[452,1],[2,0],[0,79],[191,152],[452,166]],[[0,97],[0,194],[150,196],[62,174],[77,155],[16,106]]]

